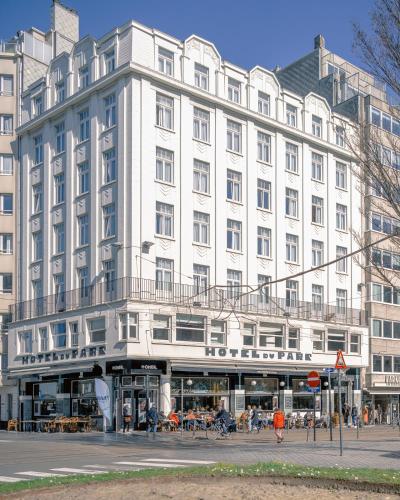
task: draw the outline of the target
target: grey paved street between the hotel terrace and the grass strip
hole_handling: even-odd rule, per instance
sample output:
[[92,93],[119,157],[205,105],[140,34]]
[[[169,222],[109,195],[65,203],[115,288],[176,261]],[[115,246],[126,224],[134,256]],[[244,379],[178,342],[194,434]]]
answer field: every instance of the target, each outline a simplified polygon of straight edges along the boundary
[[188,467],[229,462],[251,464],[282,461],[303,465],[400,468],[400,432],[388,426],[364,428],[357,439],[355,429],[344,431],[344,454],[339,455],[338,432],[317,429],[307,442],[304,430],[286,433],[277,445],[273,431],[236,433],[227,440],[206,439],[204,433],[129,435],[43,434],[0,432],[0,482],[16,482],[51,474],[97,474],[149,467]]

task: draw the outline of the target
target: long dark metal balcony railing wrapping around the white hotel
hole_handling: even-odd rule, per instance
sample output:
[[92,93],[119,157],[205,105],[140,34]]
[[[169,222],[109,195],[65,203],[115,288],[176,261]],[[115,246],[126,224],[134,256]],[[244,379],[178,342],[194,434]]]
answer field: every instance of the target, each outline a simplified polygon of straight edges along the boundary
[[193,285],[156,282],[139,278],[120,278],[101,282],[39,299],[18,302],[10,306],[12,321],[22,321],[40,316],[72,311],[119,300],[167,303],[180,307],[208,308],[217,311],[253,313],[265,316],[286,317],[339,323],[365,325],[365,311],[358,309],[318,305],[311,302],[273,298],[260,292],[244,294],[244,288],[199,289]]

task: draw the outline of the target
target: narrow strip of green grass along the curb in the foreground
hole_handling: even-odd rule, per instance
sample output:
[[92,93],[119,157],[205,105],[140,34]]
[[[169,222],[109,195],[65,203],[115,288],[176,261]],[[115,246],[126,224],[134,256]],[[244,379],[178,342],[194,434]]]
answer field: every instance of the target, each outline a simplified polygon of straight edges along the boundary
[[187,467],[185,469],[143,469],[139,471],[115,471],[104,474],[76,474],[65,477],[25,480],[19,483],[0,483],[0,494],[18,491],[59,487],[64,485],[85,485],[125,479],[147,479],[168,477],[293,477],[304,479],[333,479],[349,482],[397,485],[400,491],[400,471],[392,469],[369,469],[353,467],[307,467],[281,462],[260,462],[253,465],[215,464],[212,466]]

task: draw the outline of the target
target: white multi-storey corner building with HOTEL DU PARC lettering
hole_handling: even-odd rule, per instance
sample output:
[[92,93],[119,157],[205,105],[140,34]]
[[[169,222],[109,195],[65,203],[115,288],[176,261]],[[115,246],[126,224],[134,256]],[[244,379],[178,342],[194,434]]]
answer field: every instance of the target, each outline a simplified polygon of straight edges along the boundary
[[95,376],[136,425],[146,398],[304,411],[307,372],[337,349],[360,404],[361,269],[290,278],[357,248],[351,122],[324,98],[129,22],[52,59],[22,108],[8,356],[21,418],[98,415]]

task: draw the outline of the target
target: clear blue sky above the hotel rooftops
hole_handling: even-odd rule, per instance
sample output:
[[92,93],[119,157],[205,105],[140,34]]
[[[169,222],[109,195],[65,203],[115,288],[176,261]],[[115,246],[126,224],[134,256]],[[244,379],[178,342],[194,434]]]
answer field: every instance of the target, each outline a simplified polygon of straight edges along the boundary
[[[285,66],[327,47],[360,64],[352,22],[368,28],[373,0],[64,0],[78,10],[81,35],[101,36],[135,19],[179,39],[195,33],[215,43],[224,59],[244,68]],[[35,26],[47,31],[51,0],[0,0],[0,39]],[[111,8],[110,8],[111,6]]]

